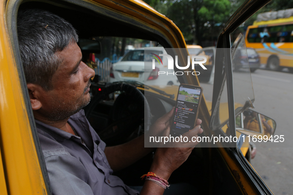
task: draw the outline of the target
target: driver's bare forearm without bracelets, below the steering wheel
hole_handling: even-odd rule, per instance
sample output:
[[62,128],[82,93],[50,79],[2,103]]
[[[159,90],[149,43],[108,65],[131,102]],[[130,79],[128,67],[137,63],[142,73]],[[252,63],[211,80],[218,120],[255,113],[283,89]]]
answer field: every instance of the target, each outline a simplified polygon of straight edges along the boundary
[[144,147],[144,135],[122,145],[105,148],[107,160],[114,171],[121,170],[146,154],[154,148]]

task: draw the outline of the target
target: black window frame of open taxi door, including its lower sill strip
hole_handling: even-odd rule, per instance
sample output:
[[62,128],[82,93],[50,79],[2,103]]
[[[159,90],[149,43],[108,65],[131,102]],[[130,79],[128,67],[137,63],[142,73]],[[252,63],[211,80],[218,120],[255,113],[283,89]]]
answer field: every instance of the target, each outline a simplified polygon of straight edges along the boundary
[[[234,92],[233,92],[233,72],[232,72],[232,63],[231,58],[226,60],[228,66],[225,66],[223,63],[223,57],[231,55],[231,52],[228,49],[231,48],[230,34],[245,20],[247,20],[251,15],[258,11],[261,7],[265,6],[270,0],[260,1],[260,0],[246,0],[230,17],[225,27],[220,33],[217,48],[227,48],[225,53],[216,52],[216,63],[215,63],[215,74],[214,80],[215,83],[219,82],[221,88],[213,87],[213,101],[212,101],[212,114],[210,118],[210,128],[214,131],[220,131],[220,129],[212,129],[211,121],[216,119],[218,116],[218,108],[220,103],[220,98],[222,95],[222,88],[224,87],[225,81],[227,79],[227,91],[228,91],[228,106],[229,106],[229,126],[233,130],[235,135],[235,110],[234,110]],[[223,50],[223,49],[222,49]],[[220,50],[221,51],[221,50]],[[223,56],[221,56],[223,55]],[[227,59],[227,58],[226,58]],[[222,60],[222,61],[221,61]],[[222,63],[221,63],[222,62]],[[220,74],[222,71],[222,74]],[[232,81],[232,83],[231,83]],[[228,83],[230,82],[230,83]],[[230,88],[230,89],[229,89]],[[225,150],[229,153],[230,157],[241,167],[244,175],[250,181],[252,186],[257,189],[257,191],[262,195],[273,195],[268,186],[264,183],[261,177],[256,173],[252,168],[251,164],[246,160],[242,154],[240,148],[226,147]]]

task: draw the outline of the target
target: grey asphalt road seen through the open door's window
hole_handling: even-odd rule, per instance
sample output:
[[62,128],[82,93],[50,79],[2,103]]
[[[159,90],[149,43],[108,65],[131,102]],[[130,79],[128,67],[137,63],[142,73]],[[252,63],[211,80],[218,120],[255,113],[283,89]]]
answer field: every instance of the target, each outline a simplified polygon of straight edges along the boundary
[[273,118],[277,123],[275,135],[285,137],[284,143],[256,143],[251,164],[275,195],[292,195],[293,74],[259,69],[251,77],[254,110]]

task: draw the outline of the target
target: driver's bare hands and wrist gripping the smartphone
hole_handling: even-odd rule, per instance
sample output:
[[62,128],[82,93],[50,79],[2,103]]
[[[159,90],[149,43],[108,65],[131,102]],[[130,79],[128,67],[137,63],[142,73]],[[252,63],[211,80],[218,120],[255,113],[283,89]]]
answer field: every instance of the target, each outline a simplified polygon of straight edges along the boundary
[[[150,128],[148,135],[146,136],[148,139],[150,136],[161,136],[161,137],[169,137],[171,124],[173,122],[174,116],[174,108],[166,113],[164,116],[159,118]],[[188,138],[197,137],[198,134],[202,133],[203,130],[200,128],[200,124],[202,121],[200,119],[196,120],[196,126],[183,134]],[[162,144],[162,143],[161,143]],[[163,178],[164,180],[169,179],[171,174],[183,163],[186,161],[191,151],[194,149],[198,143],[196,142],[188,142],[187,144],[182,145],[181,143],[176,143],[176,147],[172,147],[168,143],[164,147],[158,147],[155,152],[155,156],[153,159],[153,163],[150,168],[150,172],[155,173],[157,176]],[[169,146],[168,146],[169,145]],[[178,147],[182,145],[182,147]],[[170,147],[171,146],[171,147]],[[143,189],[141,191],[141,195],[161,195],[164,193],[164,188],[160,187],[157,184],[154,184],[152,181],[146,181]]]

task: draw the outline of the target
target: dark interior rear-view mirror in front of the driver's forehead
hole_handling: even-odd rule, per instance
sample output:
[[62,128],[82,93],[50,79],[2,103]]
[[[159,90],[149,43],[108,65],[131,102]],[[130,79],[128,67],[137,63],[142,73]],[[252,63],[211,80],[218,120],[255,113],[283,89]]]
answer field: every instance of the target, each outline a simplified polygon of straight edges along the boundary
[[101,53],[101,42],[97,40],[90,39],[79,39],[77,45],[79,46],[81,52],[86,53]]

